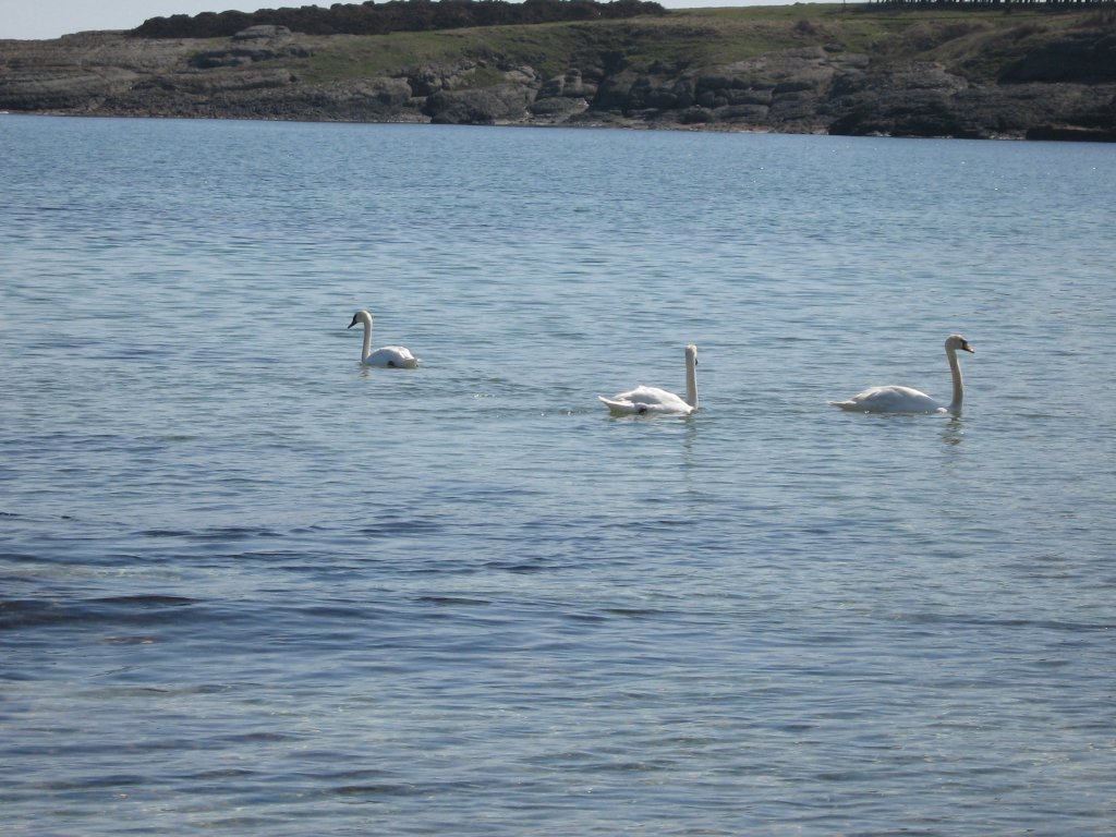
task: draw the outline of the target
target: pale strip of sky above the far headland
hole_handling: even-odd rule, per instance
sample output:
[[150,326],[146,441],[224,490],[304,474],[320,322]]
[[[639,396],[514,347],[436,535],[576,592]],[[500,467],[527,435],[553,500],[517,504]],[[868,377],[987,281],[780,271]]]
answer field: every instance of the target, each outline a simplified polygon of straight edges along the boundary
[[[362,2],[363,0],[344,0]],[[667,9],[711,6],[782,6],[793,0],[658,0]],[[198,15],[203,11],[314,6],[305,0],[244,2],[244,0],[0,0],[0,39],[40,40],[87,29],[134,29],[147,18]],[[317,6],[333,6],[329,2]]]

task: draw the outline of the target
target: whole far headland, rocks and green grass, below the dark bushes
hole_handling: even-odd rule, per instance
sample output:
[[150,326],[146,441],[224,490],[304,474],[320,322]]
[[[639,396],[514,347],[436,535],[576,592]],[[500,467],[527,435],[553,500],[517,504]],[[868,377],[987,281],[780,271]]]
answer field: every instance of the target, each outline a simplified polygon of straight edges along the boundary
[[1116,16],[795,6],[388,36],[0,41],[0,109],[1116,140]]

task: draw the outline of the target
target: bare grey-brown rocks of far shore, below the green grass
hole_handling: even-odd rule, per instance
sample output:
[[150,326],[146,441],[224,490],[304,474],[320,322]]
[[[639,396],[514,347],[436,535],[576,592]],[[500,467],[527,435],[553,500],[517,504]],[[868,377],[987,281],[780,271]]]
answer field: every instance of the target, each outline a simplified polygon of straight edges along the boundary
[[715,66],[677,57],[641,62],[606,45],[568,56],[558,73],[487,50],[331,78],[315,60],[359,36],[270,26],[206,40],[84,32],[0,41],[0,109],[1116,141],[1112,27],[1031,26],[1013,36],[954,28],[952,40],[988,37],[978,55],[985,65],[994,59],[991,69],[975,73],[971,54],[951,60],[942,48],[951,39],[935,32],[926,36],[932,48],[897,51],[857,49],[834,30]]

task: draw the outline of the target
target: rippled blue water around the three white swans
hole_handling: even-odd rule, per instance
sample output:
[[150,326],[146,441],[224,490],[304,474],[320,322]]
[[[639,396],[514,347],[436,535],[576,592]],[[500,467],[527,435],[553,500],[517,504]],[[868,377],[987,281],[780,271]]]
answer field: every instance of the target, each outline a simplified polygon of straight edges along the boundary
[[0,143],[6,834],[1112,833],[1116,148]]

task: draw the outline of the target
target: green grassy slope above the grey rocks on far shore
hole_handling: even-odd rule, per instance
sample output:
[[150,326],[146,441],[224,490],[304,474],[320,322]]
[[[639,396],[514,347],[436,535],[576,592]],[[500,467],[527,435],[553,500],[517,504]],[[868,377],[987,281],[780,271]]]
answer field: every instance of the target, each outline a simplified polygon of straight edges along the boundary
[[622,56],[639,70],[655,61],[703,70],[772,50],[835,45],[877,57],[934,57],[950,44],[949,58],[958,61],[968,49],[980,48],[974,33],[1061,28],[1080,18],[1043,9],[902,10],[864,3],[684,9],[628,20],[321,38],[301,73],[307,80],[325,81],[501,58],[549,77],[604,56]]

